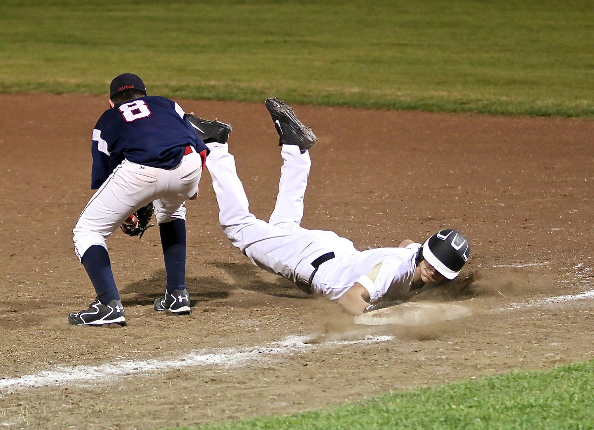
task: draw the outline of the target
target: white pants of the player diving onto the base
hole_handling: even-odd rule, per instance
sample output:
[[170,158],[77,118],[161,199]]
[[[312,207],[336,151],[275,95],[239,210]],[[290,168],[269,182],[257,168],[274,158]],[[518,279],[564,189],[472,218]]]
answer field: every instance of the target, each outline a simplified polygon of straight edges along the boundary
[[301,154],[298,147],[283,145],[279,194],[267,223],[249,212],[248,198],[228,145],[212,143],[207,146],[211,152],[206,166],[213,179],[219,222],[226,236],[257,267],[295,283],[307,284],[314,271],[312,261],[326,252],[340,249],[346,241],[334,232],[300,226],[311,166],[309,153]]

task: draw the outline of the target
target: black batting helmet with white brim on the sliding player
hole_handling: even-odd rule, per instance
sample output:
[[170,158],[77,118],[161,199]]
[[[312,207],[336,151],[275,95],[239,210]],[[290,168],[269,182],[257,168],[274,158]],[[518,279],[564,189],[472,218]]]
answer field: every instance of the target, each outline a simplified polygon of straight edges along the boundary
[[457,230],[443,229],[425,241],[422,257],[447,279],[454,279],[470,257],[468,241]]

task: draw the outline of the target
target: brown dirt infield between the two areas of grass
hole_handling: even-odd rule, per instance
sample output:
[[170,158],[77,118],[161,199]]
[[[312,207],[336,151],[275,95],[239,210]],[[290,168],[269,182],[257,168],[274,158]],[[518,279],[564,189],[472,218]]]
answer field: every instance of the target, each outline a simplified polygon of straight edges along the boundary
[[[295,106],[319,138],[303,225],[361,249],[462,230],[463,276],[415,300],[464,303],[473,317],[353,324],[228,243],[205,173],[187,204],[192,315],[153,311],[165,284],[158,230],[118,231],[108,246],[129,324],[93,328],[67,324],[94,297],[71,230],[91,195],[90,135],[106,99],[0,102],[0,426],[201,424],[592,358],[594,121]],[[264,105],[178,102],[232,122],[251,209],[267,219],[280,156]]]

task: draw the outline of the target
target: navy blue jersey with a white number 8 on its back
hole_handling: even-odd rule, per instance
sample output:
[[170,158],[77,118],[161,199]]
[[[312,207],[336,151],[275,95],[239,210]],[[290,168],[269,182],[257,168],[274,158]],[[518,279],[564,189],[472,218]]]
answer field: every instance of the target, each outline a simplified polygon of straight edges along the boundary
[[[207,150],[184,110],[165,97],[145,96],[103,112],[93,129],[91,189],[99,188],[124,159],[173,169],[185,147]],[[208,151],[208,150],[207,150]]]

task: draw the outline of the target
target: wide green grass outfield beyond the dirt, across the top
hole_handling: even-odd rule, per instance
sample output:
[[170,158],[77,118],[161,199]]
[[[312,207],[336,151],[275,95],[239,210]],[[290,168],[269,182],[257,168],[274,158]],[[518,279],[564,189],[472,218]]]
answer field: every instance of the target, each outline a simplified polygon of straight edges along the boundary
[[590,0],[3,0],[0,92],[594,118]]

